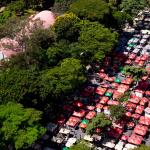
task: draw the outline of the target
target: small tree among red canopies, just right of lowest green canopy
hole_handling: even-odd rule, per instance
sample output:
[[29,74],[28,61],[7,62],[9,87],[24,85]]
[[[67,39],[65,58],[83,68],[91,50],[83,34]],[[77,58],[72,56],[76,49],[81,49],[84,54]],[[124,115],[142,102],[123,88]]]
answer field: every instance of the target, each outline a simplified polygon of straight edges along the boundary
[[105,128],[110,125],[111,121],[103,113],[100,113],[87,125],[86,133],[93,134],[96,128]]

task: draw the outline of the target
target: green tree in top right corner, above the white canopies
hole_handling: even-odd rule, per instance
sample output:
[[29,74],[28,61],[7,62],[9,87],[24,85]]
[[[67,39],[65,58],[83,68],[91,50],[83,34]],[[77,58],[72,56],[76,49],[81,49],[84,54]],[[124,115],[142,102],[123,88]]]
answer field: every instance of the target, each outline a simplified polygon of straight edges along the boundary
[[123,0],[120,7],[124,12],[135,16],[139,10],[147,7],[147,2],[146,0]]

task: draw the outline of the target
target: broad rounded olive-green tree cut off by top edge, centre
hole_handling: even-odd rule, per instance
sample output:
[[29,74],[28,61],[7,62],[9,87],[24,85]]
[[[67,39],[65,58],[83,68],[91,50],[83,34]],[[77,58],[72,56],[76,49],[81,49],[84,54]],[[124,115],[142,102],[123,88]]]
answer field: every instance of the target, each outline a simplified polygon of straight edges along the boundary
[[77,0],[71,4],[70,11],[81,19],[102,21],[109,14],[109,5],[105,0]]

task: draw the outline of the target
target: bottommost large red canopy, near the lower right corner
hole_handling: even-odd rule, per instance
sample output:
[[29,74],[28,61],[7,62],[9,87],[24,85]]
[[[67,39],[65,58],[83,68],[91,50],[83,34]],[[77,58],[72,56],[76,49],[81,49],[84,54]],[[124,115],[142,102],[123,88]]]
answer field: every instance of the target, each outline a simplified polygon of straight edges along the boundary
[[143,137],[136,135],[136,134],[132,134],[129,139],[128,142],[135,144],[135,145],[140,145],[142,143]]

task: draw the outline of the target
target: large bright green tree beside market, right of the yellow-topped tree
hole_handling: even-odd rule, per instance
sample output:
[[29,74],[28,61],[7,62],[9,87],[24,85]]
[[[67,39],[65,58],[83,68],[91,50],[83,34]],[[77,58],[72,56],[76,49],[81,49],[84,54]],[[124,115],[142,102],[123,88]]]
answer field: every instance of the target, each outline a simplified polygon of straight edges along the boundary
[[[71,51],[77,57],[85,55],[90,60],[102,61],[117,43],[118,34],[98,22],[81,21],[80,36]],[[86,59],[86,58],[85,58]]]

